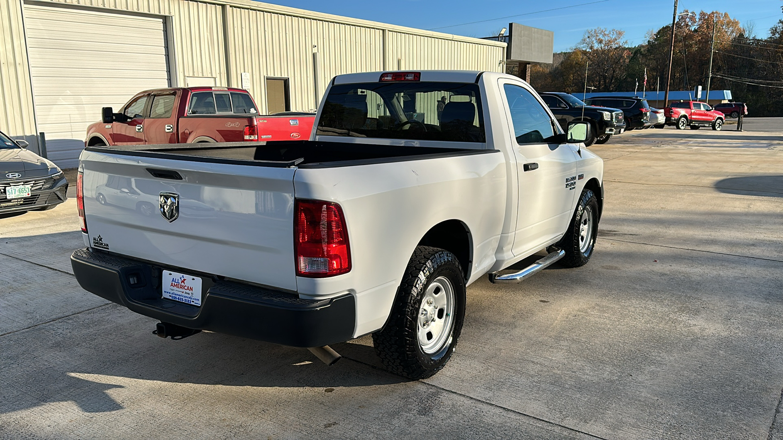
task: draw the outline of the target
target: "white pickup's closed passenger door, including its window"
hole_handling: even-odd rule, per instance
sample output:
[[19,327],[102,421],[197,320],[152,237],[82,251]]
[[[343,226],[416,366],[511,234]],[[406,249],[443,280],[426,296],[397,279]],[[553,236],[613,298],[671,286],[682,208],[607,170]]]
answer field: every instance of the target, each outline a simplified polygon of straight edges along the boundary
[[514,255],[530,254],[557,238],[571,220],[576,146],[558,144],[554,121],[521,83],[501,80],[509,133],[518,165],[519,204]]

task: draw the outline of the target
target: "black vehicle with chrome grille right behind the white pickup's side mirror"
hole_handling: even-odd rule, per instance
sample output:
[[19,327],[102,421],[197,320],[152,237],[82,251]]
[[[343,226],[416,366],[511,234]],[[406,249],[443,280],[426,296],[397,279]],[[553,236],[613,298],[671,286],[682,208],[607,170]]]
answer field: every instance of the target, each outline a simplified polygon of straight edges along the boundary
[[591,146],[594,142],[606,143],[612,135],[619,135],[626,128],[622,110],[588,106],[568,93],[543,92],[539,95],[563,130],[568,131],[568,123],[572,121],[590,122],[593,137],[586,140],[585,146]]

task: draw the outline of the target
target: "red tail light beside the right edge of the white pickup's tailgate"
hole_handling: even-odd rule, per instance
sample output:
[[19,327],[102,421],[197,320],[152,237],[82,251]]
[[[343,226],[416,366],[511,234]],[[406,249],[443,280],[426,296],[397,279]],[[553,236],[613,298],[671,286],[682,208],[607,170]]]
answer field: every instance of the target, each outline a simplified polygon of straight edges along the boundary
[[350,272],[348,228],[340,205],[296,200],[294,214],[297,275],[324,278]]

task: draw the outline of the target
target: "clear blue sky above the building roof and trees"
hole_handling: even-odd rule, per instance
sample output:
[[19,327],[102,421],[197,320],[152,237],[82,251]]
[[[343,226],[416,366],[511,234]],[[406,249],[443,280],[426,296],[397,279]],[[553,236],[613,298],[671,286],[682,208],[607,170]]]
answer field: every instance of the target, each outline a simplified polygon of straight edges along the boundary
[[[514,18],[446,27],[453,24],[496,19],[502,16],[532,13],[543,9],[580,5],[596,0],[267,0],[267,3],[309,9],[321,13],[351,16],[364,20],[381,21],[419,29],[437,29],[449,34],[486,37],[513,21],[532,27],[554,31],[554,51],[571,49],[582,38],[586,29],[608,27],[626,31],[631,45],[644,42],[647,31],[672,22],[673,0],[605,0],[592,5],[576,6]],[[680,12],[720,11],[740,21],[755,24],[757,37],[769,34],[769,29],[783,18],[781,0],[680,0]]]

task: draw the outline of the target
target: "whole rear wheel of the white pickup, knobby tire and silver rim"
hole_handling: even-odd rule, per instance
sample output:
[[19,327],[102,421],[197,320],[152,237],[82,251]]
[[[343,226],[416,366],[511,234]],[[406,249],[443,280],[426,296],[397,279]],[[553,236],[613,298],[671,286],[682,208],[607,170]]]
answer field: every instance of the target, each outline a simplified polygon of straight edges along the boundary
[[425,379],[449,362],[465,317],[465,280],[456,256],[437,247],[413,251],[384,329],[373,334],[392,373]]

